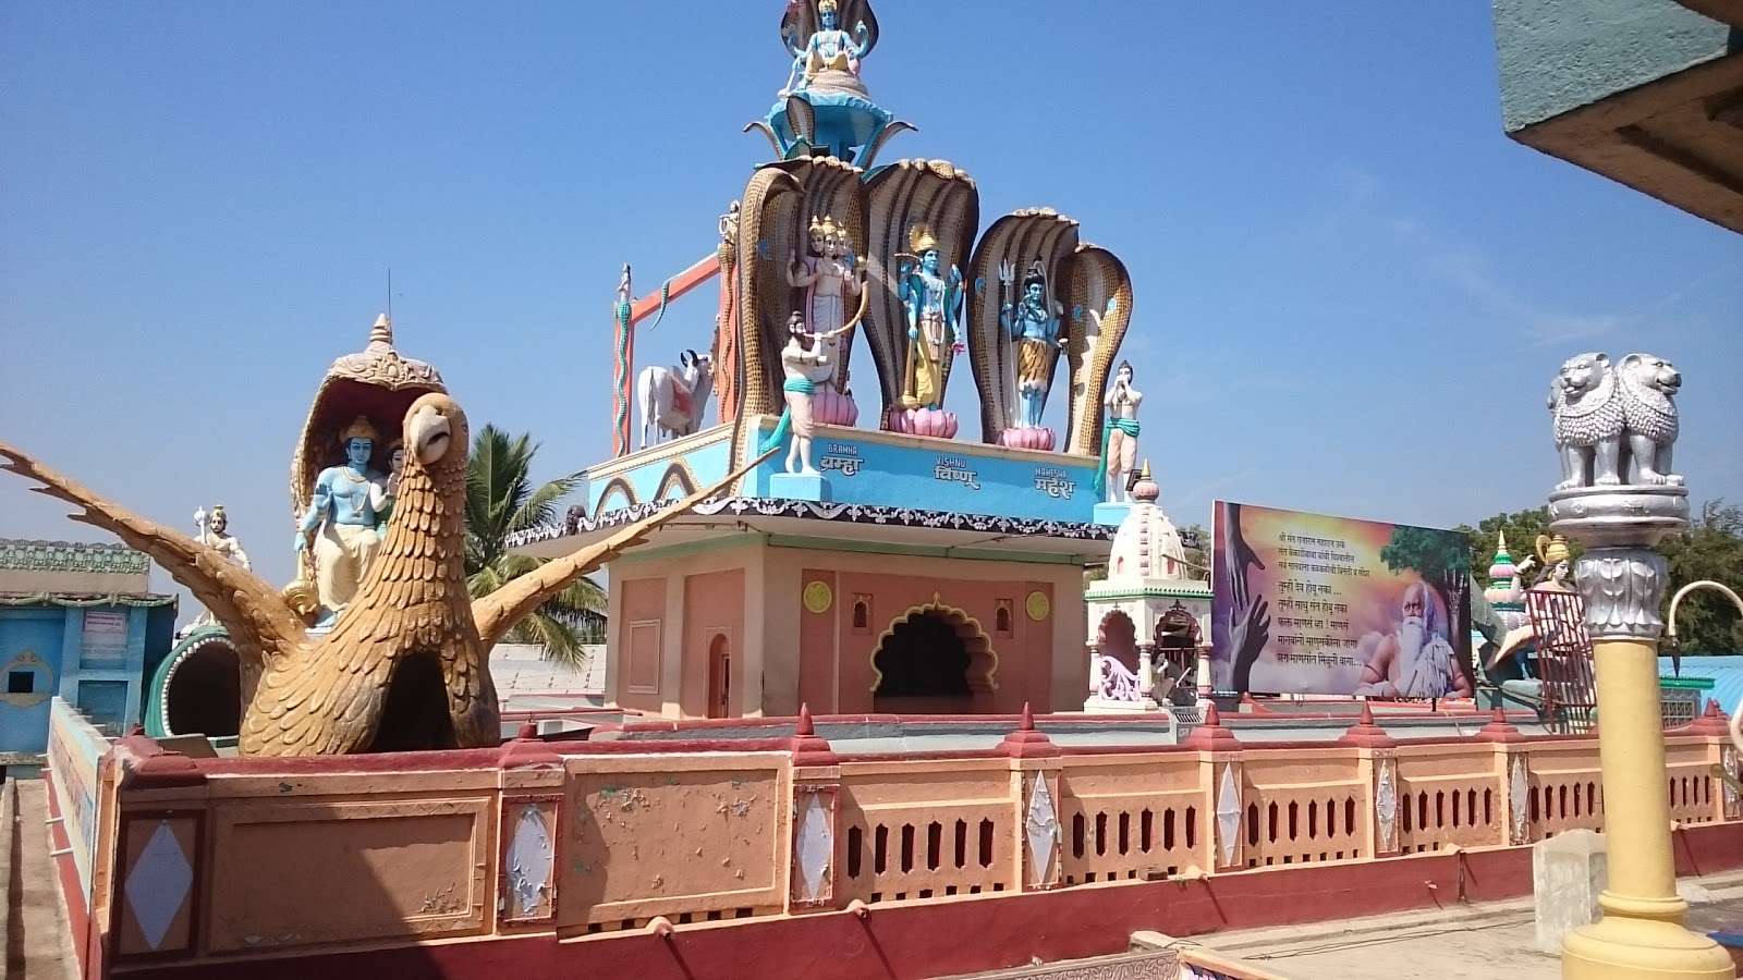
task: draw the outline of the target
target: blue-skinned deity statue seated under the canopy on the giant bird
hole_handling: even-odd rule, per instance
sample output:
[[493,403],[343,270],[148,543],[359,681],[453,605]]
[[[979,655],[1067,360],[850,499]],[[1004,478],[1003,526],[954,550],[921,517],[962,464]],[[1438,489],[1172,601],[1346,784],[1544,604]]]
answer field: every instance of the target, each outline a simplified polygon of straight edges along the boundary
[[296,523],[296,553],[310,551],[314,539],[315,593],[321,600],[317,626],[331,626],[357,593],[363,572],[382,544],[376,507],[385,502],[385,478],[370,469],[380,436],[359,415],[338,436],[345,464],[329,466],[315,478],[309,511]]

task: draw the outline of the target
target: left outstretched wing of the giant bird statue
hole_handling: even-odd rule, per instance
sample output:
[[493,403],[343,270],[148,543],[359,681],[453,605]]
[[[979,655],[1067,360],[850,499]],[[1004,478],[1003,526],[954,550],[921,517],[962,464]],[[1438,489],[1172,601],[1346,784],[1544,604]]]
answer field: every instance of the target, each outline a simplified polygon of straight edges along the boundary
[[108,502],[24,450],[0,443],[0,459],[5,460],[0,469],[40,483],[33,487],[37,493],[80,507],[82,513],[71,514],[71,520],[99,527],[150,555],[223,623],[244,663],[267,664],[303,643],[303,623],[279,591],[260,575],[232,565],[223,553]]

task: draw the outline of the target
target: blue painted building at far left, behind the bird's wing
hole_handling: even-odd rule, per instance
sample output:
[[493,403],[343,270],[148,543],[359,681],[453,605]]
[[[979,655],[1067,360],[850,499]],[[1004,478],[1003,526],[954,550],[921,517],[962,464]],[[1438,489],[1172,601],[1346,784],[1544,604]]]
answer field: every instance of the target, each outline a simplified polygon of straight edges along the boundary
[[139,722],[141,678],[169,652],[176,596],[120,544],[0,541],[0,766],[35,767],[59,696],[110,734]]

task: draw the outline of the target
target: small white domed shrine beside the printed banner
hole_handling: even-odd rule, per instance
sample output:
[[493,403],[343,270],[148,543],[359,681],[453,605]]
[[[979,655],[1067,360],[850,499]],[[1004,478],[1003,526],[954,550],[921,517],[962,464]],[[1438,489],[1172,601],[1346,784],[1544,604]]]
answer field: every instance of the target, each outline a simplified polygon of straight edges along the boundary
[[1159,711],[1194,704],[1208,678],[1208,581],[1189,577],[1185,544],[1157,504],[1150,466],[1131,488],[1107,579],[1084,591],[1089,698],[1084,711]]

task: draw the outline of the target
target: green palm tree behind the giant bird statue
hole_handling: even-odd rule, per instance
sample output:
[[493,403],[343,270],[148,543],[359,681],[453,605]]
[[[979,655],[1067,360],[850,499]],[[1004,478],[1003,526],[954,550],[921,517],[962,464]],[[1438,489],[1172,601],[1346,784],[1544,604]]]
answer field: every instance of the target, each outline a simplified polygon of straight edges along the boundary
[[[558,502],[580,483],[577,474],[535,488],[528,476],[535,452],[539,446],[530,434],[511,438],[495,425],[485,425],[472,439],[465,464],[465,584],[472,596],[490,595],[544,563],[512,555],[507,539],[556,520]],[[504,640],[540,643],[551,659],[579,666],[582,624],[603,610],[605,591],[582,575],[516,623]]]

